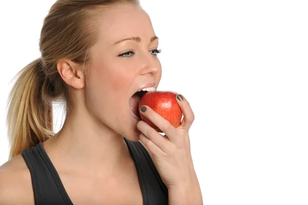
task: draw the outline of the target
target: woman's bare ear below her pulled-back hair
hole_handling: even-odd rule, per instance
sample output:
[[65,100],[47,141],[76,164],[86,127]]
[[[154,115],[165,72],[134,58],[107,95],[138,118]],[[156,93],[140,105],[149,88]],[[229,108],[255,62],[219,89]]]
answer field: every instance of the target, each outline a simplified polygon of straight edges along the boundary
[[65,83],[76,89],[82,89],[85,86],[82,67],[68,58],[62,58],[56,64],[57,71]]

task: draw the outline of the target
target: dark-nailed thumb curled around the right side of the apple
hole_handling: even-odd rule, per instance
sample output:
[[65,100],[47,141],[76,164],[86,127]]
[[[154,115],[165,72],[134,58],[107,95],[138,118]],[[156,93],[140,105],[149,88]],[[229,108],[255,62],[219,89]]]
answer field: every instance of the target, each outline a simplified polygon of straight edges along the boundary
[[184,115],[183,120],[181,121],[181,124],[178,128],[183,128],[184,130],[188,131],[192,125],[192,122],[195,120],[194,112],[192,112],[188,101],[183,97],[183,95],[177,95],[177,101]]

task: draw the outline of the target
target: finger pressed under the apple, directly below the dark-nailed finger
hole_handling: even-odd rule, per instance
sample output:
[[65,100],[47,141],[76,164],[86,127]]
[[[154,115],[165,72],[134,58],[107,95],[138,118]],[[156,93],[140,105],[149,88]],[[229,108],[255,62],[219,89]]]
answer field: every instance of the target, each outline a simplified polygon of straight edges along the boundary
[[169,144],[171,143],[167,137],[159,134],[156,130],[154,130],[145,121],[142,120],[137,123],[137,128],[162,151],[167,151],[168,146],[170,146]]

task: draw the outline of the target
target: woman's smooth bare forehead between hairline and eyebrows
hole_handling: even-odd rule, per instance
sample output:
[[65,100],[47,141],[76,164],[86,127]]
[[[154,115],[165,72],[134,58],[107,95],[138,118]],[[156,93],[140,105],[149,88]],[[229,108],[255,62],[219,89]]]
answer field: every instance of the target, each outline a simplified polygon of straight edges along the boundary
[[155,35],[148,14],[141,7],[134,5],[118,5],[108,8],[99,17],[98,26],[100,43],[112,44],[126,37],[149,38]]

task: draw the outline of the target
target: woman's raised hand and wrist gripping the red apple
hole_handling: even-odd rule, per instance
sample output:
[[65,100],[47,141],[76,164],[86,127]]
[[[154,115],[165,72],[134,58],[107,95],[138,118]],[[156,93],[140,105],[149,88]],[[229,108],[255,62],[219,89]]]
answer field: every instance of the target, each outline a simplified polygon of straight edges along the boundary
[[[175,128],[169,121],[145,106],[146,110],[143,115],[165,135],[161,135],[146,122],[140,120],[137,124],[137,128],[141,131],[140,141],[149,151],[162,180],[168,188],[169,204],[202,204],[188,135],[195,115],[188,101],[182,95],[177,96],[177,101],[184,115],[178,128]],[[143,110],[142,107],[141,110]],[[188,197],[198,202],[195,203]]]

